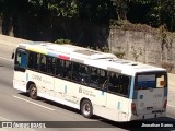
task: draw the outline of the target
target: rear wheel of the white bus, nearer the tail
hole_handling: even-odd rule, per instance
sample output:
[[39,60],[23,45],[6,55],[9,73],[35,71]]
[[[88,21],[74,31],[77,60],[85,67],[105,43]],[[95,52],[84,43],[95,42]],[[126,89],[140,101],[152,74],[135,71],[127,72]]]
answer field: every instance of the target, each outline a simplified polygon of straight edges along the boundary
[[85,118],[92,118],[93,115],[93,108],[92,108],[92,104],[90,100],[84,99],[81,103],[81,114],[85,117]]

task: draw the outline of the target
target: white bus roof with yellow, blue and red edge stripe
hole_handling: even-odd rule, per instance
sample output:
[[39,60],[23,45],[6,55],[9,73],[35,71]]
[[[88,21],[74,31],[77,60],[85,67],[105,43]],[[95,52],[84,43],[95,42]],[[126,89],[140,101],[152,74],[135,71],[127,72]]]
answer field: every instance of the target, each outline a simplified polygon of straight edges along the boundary
[[118,73],[124,73],[127,75],[132,75],[137,72],[166,71],[163,68],[119,59],[113,53],[101,52],[73,45],[58,45],[45,41],[27,41],[20,44],[19,47]]

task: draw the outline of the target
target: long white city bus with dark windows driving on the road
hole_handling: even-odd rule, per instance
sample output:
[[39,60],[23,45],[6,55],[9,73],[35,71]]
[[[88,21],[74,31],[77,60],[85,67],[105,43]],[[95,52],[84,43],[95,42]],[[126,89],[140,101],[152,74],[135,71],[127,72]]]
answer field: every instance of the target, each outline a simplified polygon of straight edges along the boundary
[[15,50],[13,86],[114,121],[164,117],[167,72],[72,45],[30,41]]

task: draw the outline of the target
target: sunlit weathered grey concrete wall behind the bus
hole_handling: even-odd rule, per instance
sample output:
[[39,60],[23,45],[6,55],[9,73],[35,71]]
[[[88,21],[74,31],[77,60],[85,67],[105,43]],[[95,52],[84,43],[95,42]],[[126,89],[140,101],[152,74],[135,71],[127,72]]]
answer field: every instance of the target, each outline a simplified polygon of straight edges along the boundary
[[112,52],[124,52],[125,59],[135,60],[133,55],[139,53],[137,61],[161,67],[163,62],[175,64],[175,39],[166,40],[162,44],[159,33],[112,28],[108,45]]

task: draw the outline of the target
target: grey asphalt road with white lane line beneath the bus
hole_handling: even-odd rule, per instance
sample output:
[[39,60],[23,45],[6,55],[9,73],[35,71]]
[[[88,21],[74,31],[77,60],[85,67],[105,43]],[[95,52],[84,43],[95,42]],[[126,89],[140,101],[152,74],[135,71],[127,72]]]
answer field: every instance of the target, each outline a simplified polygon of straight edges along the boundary
[[[136,127],[128,127],[127,123],[120,124],[113,121],[105,121],[102,118],[86,119],[82,117],[79,110],[67,106],[56,104],[46,99],[33,100],[26,94],[12,87],[13,62],[9,58],[0,57],[0,121],[59,121],[58,127],[51,129],[25,129],[28,131],[126,131],[136,130]],[[173,79],[171,78],[173,81]],[[171,82],[173,83],[173,82]],[[175,86],[171,85],[168,91],[167,117],[152,119],[152,121],[174,121],[175,127]],[[61,122],[67,121],[67,122]],[[74,122],[73,122],[74,121]],[[85,122],[82,122],[85,121]],[[69,128],[65,128],[65,127]],[[71,127],[84,128],[71,128]],[[96,128],[95,128],[96,127]],[[103,127],[100,128],[100,127]],[[24,129],[20,129],[24,130]],[[18,130],[18,131],[20,131]],[[142,129],[138,129],[142,130]],[[156,130],[153,128],[152,130]],[[158,129],[160,131],[160,129]],[[161,129],[170,130],[170,129]],[[173,130],[173,129],[171,129]],[[14,129],[2,129],[0,131],[15,131]]]

